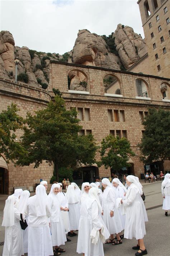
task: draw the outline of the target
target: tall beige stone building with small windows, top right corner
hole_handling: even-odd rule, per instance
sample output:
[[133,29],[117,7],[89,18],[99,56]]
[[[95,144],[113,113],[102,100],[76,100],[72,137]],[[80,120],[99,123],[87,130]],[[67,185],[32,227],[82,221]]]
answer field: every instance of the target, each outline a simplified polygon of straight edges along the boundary
[[[148,52],[146,66],[142,62],[138,65],[140,72],[170,78],[170,1],[139,0],[137,3]],[[136,72],[136,65],[129,71]]]

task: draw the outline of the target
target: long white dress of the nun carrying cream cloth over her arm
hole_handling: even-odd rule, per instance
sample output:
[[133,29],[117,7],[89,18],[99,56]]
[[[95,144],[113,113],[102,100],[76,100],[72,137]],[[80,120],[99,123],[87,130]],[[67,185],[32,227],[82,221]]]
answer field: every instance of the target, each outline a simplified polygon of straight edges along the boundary
[[[91,201],[91,206],[88,208],[87,202]],[[98,241],[98,244],[92,244],[90,233],[93,228],[99,230],[102,226],[101,219],[98,214],[98,204],[91,198],[86,198],[81,203],[79,234],[77,240],[77,252],[85,253],[85,256],[104,256],[103,244]]]

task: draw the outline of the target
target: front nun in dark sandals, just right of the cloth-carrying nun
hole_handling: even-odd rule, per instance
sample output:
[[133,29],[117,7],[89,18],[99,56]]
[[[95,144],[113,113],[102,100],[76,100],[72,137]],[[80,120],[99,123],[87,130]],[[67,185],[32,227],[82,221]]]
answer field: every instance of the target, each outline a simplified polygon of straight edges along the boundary
[[[102,203],[103,221],[110,233],[110,239],[105,243],[112,243],[113,245],[122,244],[119,233],[121,233],[123,227],[118,209],[115,207],[116,197],[114,188],[108,178],[103,178],[101,183],[105,188]],[[116,234],[117,237],[116,241],[114,241],[114,234]]]

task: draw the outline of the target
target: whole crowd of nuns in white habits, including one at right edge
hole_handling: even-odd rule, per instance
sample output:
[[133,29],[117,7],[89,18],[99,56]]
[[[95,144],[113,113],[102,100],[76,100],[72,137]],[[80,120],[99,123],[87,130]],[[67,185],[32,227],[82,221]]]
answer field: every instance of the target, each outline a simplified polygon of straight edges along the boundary
[[[70,241],[68,236],[77,235],[76,230],[79,230],[76,251],[84,256],[104,256],[103,243],[121,246],[123,238],[136,238],[137,244],[132,247],[135,255],[146,255],[143,237],[148,218],[139,179],[127,176],[126,187],[118,178],[112,182],[103,178],[101,183],[84,182],[80,190],[72,182],[66,193],[62,192],[61,183],[53,184],[47,195],[47,182],[42,181],[32,197],[29,191],[16,189],[6,199],[4,208],[3,256],[61,255],[65,252],[62,245]],[[162,196],[167,213],[170,174],[162,182]],[[24,223],[26,220],[27,228],[22,229],[22,219]]]

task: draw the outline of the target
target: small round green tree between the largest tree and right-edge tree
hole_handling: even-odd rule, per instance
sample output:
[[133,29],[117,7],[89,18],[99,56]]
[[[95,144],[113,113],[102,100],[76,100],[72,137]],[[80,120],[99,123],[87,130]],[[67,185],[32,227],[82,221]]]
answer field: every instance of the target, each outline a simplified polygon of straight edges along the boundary
[[134,155],[130,142],[126,138],[119,138],[118,136],[115,138],[110,134],[103,138],[101,142],[101,162],[98,165],[103,164],[105,169],[110,167],[115,171],[119,171],[122,167],[131,166],[127,161],[129,156]]

